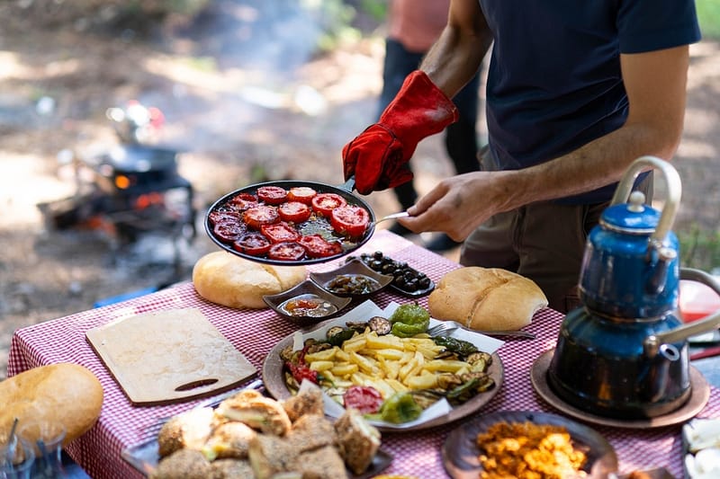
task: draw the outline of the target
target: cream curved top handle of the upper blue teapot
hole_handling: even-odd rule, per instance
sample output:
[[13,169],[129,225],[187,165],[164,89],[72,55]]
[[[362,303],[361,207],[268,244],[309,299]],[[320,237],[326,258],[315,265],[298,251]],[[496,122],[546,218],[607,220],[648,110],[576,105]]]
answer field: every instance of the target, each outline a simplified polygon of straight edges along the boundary
[[675,215],[680,205],[680,195],[682,194],[682,183],[678,171],[668,162],[658,158],[657,156],[640,156],[627,169],[625,175],[617,185],[611,205],[625,203],[630,197],[633,189],[635,178],[644,170],[655,168],[662,171],[665,176],[665,185],[667,187],[667,200],[665,206],[662,207],[662,213],[658,220],[658,226],[655,228],[653,235],[650,237],[650,244],[660,247],[665,241],[665,237],[670,233],[672,223],[675,221]]

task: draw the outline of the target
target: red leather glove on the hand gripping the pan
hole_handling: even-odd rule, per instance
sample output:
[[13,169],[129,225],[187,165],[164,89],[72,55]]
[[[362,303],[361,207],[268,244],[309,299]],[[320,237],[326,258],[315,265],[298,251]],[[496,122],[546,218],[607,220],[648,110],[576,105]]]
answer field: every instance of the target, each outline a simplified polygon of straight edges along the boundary
[[410,182],[408,162],[419,141],[456,120],[446,94],[425,72],[412,72],[380,120],[343,148],[345,179],[355,174],[356,190],[364,195]]

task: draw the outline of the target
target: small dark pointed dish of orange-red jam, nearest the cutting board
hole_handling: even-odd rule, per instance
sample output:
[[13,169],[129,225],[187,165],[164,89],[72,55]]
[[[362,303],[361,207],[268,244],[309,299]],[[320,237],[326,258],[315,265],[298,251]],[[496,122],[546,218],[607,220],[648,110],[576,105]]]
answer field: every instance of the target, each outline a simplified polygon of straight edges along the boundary
[[[306,279],[294,288],[276,295],[266,295],[263,297],[267,306],[270,306],[275,313],[283,316],[288,321],[295,324],[308,325],[325,321],[337,315],[345,306],[347,306],[352,298],[339,297],[332,294],[326,289],[320,288],[317,283]],[[306,300],[317,302],[318,308],[302,308],[290,307],[289,304],[293,300]],[[302,305],[294,305],[302,306]],[[294,310],[294,314],[293,314]]]

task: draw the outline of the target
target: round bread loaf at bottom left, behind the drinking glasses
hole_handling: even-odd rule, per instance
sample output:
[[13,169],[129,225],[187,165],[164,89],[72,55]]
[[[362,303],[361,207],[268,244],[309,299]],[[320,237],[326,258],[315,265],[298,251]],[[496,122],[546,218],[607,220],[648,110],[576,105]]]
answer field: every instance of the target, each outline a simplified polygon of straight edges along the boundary
[[[80,365],[50,364],[0,382],[0,404],[0,430],[9,431],[15,418],[17,430],[33,422],[59,422],[66,430],[65,446],[97,421],[103,406],[103,386]],[[33,430],[38,432],[29,428],[28,434]]]

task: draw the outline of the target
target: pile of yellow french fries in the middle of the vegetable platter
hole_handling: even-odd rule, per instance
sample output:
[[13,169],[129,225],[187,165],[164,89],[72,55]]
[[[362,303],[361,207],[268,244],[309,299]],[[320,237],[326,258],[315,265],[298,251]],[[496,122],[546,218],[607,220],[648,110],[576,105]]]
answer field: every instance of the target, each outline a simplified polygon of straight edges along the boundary
[[337,387],[373,386],[387,399],[398,392],[437,387],[437,373],[469,369],[464,361],[436,359],[443,350],[429,337],[379,336],[367,328],[341,347],[306,354],[305,361]]

